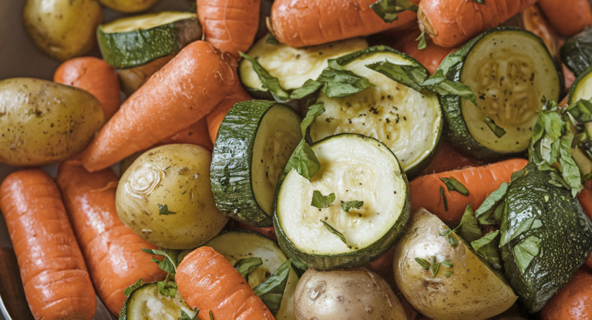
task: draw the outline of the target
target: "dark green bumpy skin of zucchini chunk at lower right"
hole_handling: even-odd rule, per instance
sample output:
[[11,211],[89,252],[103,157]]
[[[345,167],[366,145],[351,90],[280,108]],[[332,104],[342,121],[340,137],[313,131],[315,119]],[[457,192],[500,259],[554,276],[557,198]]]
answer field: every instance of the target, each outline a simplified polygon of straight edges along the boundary
[[[548,182],[551,171],[540,171],[534,164],[526,169],[527,174],[512,182],[507,191],[500,252],[506,279],[526,309],[534,313],[570,280],[592,252],[592,223],[571,191]],[[542,225],[512,234],[516,223],[529,218]],[[522,272],[514,250],[529,236],[542,241],[539,253]],[[513,239],[504,243],[506,237]]]

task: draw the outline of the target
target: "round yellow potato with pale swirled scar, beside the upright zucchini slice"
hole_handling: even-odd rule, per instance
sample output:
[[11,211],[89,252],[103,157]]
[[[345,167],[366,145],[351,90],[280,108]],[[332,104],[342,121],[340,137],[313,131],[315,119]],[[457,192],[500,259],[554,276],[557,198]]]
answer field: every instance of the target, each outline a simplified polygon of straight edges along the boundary
[[156,246],[192,249],[204,244],[228,221],[214,203],[211,158],[207,149],[189,144],[144,152],[120,179],[117,214]]

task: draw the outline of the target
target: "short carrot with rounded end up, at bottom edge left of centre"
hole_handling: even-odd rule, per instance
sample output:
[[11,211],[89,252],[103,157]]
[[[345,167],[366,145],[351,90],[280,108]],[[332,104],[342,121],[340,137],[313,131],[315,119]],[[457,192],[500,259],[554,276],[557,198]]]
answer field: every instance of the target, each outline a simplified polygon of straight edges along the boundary
[[244,277],[223,255],[211,247],[187,254],[175,275],[179,293],[191,308],[200,309],[201,320],[273,320]]

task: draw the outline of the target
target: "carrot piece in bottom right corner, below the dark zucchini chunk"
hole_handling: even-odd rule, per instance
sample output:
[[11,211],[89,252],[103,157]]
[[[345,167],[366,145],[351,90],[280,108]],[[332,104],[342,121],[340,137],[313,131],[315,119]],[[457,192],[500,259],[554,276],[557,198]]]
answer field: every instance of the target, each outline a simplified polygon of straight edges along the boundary
[[580,268],[540,311],[542,320],[592,319],[592,274]]

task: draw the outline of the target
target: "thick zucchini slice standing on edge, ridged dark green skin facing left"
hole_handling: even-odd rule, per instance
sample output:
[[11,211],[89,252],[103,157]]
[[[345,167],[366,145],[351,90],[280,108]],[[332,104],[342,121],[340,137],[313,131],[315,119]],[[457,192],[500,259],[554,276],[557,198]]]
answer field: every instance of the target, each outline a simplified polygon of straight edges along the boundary
[[288,105],[234,105],[218,129],[210,179],[220,211],[256,227],[272,226],[275,185],[302,139],[301,117]]

